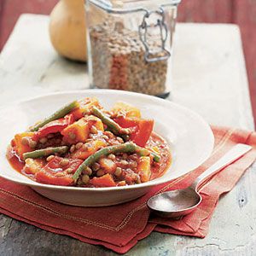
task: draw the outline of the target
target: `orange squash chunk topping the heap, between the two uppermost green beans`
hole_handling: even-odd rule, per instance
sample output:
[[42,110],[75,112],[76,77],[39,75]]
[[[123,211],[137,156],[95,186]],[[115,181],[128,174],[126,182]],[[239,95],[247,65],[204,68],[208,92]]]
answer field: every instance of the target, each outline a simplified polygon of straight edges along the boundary
[[76,120],[82,118],[85,113],[90,113],[90,109],[95,106],[101,108],[100,102],[96,97],[87,97],[79,101],[79,108],[74,109],[71,113]]

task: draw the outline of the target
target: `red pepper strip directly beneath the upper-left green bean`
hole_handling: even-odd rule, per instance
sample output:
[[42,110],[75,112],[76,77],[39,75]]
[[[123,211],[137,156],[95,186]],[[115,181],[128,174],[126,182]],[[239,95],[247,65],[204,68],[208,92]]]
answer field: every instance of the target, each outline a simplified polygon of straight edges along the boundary
[[42,137],[46,137],[49,133],[61,132],[68,125],[73,124],[73,114],[67,114],[63,119],[56,119],[41,127],[34,135],[33,139],[38,141]]

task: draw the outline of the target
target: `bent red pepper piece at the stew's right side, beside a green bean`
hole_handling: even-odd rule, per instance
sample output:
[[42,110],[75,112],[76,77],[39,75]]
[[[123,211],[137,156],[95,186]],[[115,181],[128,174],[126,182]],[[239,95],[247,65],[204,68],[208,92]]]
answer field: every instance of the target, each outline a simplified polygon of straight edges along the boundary
[[130,136],[131,141],[140,147],[145,147],[153,131],[153,119],[119,117],[114,119],[114,121],[123,128],[133,128]]

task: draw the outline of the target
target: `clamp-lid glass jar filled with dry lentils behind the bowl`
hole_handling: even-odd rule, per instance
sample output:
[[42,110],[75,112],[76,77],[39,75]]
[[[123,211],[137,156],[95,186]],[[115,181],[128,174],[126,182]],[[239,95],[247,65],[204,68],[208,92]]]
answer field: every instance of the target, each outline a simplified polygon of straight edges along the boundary
[[181,0],[87,0],[90,87],[166,97]]

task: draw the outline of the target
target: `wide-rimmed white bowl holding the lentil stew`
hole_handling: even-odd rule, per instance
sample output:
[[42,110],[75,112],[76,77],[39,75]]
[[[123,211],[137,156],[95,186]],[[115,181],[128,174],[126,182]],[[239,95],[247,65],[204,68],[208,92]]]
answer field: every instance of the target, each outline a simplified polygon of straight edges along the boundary
[[[172,151],[172,166],[167,172],[148,183],[113,188],[48,185],[36,183],[16,172],[5,156],[15,133],[26,131],[28,126],[44,119],[62,105],[84,96],[96,96],[105,108],[111,108],[117,101],[128,102],[141,109],[143,118],[154,119],[154,131],[166,139]],[[183,176],[207,160],[212,153],[214,140],[211,128],[197,113],[154,96],[120,90],[77,90],[40,96],[1,108],[0,119],[0,176],[27,185],[54,201],[81,207],[102,207],[131,201],[157,184]]]

